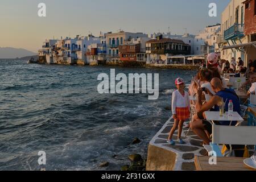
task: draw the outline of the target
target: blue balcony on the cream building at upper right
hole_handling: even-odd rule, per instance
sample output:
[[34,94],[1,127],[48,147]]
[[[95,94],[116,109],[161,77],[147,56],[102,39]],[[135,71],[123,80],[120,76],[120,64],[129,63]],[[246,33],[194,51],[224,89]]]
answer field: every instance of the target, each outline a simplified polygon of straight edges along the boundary
[[224,40],[234,39],[238,37],[244,36],[244,24],[234,24],[232,27],[228,28],[228,30],[224,31]]

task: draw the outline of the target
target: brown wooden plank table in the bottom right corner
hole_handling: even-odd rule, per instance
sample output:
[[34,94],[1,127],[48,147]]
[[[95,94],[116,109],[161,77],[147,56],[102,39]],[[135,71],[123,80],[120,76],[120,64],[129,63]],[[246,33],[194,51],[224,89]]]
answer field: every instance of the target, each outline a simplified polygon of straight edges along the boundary
[[209,164],[209,156],[195,156],[197,171],[254,171],[247,167],[243,160],[246,158],[217,158],[216,165]]

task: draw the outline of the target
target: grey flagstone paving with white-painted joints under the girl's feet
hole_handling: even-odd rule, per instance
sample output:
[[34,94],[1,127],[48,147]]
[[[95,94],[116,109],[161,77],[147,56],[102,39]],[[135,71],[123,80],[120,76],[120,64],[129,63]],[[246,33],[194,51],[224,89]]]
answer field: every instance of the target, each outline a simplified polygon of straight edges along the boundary
[[207,154],[207,151],[203,147],[203,141],[200,140],[197,135],[193,133],[193,131],[189,131],[187,137],[185,138],[188,131],[185,126],[187,126],[189,123],[189,121],[185,121],[181,138],[186,142],[186,144],[178,144],[176,142],[177,131],[174,133],[173,137],[176,144],[174,146],[168,144],[167,138],[173,123],[174,119],[170,118],[151,140],[150,144],[166,150],[171,150],[177,154],[175,171],[195,171],[195,155],[201,156]]

